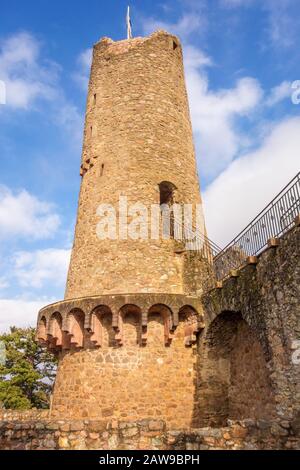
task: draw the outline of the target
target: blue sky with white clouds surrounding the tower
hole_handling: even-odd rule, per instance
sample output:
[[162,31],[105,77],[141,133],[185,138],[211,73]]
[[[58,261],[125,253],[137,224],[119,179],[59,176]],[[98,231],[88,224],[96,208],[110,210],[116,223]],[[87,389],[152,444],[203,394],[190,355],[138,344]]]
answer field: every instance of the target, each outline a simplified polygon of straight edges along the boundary
[[[166,29],[183,43],[208,232],[224,245],[299,170],[299,1],[130,5],[135,36]],[[0,330],[34,324],[41,305],[63,297],[91,47],[125,38],[126,7],[1,5]]]

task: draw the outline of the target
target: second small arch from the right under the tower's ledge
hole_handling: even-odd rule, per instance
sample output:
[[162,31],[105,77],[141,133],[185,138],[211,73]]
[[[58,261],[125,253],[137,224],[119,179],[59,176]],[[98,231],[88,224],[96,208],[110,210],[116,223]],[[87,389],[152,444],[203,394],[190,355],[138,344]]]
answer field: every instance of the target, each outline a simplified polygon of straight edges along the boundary
[[148,310],[147,344],[149,346],[170,346],[173,312],[167,305],[155,304]]

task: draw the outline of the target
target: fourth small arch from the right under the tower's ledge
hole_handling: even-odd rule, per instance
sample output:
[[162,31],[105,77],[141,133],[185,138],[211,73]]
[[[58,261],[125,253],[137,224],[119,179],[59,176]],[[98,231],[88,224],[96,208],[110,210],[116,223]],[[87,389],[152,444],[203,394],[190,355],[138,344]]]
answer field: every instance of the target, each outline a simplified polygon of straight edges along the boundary
[[97,347],[114,345],[112,311],[107,305],[99,305],[91,313],[90,341]]

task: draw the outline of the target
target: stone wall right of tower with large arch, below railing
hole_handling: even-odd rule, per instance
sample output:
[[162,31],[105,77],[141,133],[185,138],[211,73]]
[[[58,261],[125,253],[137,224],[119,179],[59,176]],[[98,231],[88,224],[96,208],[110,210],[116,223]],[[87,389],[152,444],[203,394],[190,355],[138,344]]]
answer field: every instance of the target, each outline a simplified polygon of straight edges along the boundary
[[295,226],[257,265],[203,296],[196,425],[276,416],[300,426],[299,251]]

